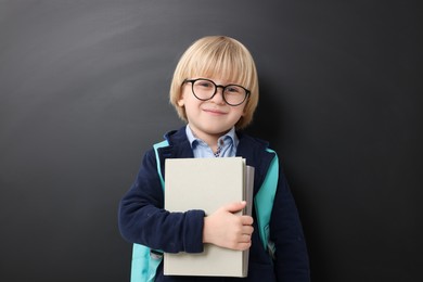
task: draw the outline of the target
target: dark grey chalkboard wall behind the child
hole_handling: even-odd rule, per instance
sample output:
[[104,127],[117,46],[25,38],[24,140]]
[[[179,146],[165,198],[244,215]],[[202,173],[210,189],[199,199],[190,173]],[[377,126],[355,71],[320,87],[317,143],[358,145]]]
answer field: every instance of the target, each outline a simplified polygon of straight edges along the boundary
[[313,281],[423,281],[418,1],[0,1],[0,280],[128,281],[117,205],[182,124],[182,51],[240,39]]

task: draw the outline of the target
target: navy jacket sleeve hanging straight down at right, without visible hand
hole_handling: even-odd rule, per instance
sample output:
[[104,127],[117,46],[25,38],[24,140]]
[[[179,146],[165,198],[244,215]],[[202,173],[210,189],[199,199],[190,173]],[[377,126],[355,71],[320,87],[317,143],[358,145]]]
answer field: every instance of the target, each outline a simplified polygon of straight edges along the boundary
[[309,260],[303,227],[286,178],[280,170],[270,220],[270,240],[275,244],[278,281],[309,282]]

